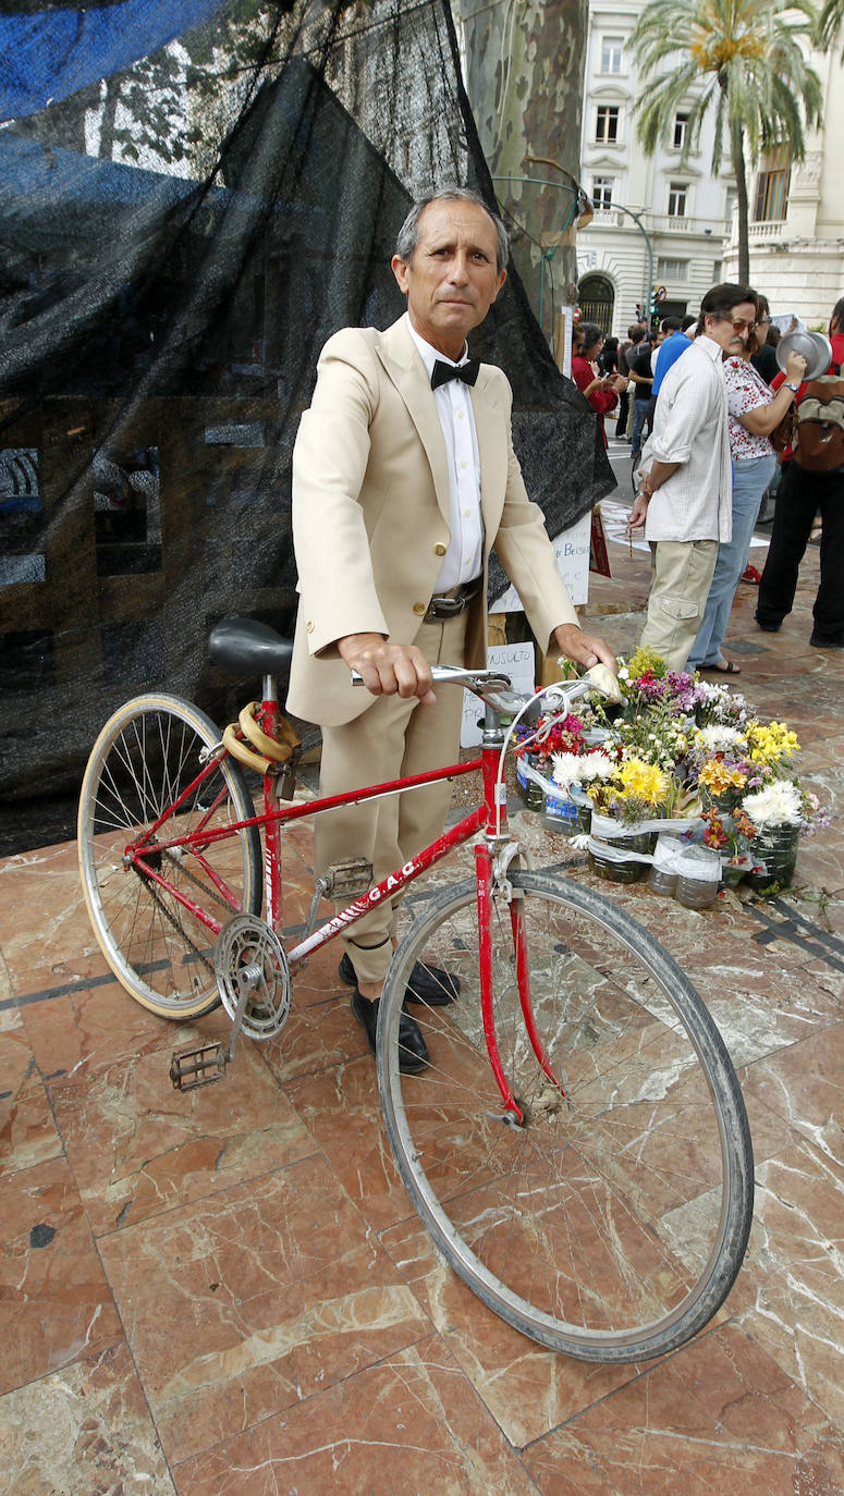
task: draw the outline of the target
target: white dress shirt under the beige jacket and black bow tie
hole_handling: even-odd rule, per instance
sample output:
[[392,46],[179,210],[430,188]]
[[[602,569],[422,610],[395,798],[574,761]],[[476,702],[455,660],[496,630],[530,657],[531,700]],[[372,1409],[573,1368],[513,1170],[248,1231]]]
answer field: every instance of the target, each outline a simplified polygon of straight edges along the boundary
[[[437,353],[429,343],[425,343],[425,338],[419,337],[409,316],[407,326],[419,350],[419,358],[425,365],[425,373],[431,378],[437,359],[443,364],[450,364],[452,361]],[[468,352],[465,349],[455,367],[461,364],[468,364]],[[483,568],[480,452],[468,384],[464,384],[459,378],[452,378],[447,384],[440,384],[432,395],[449,464],[450,531],[449,549],[443,557],[434,592],[449,592],[464,582],[473,582],[474,577],[480,576]]]

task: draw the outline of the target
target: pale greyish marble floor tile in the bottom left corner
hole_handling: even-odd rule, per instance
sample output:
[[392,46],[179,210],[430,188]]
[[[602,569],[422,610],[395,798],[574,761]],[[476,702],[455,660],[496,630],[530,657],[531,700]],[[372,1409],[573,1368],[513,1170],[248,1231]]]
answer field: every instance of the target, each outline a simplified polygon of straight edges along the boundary
[[175,1496],[126,1345],[0,1397],[0,1468],[13,1496]]

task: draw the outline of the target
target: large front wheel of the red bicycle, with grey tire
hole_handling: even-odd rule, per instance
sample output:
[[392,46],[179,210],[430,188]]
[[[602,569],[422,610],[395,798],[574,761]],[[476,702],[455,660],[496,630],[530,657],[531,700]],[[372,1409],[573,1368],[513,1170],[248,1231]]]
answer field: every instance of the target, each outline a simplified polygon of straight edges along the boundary
[[[711,1319],[744,1258],[753,1152],[735,1070],[691,983],[634,920],[548,872],[515,872],[512,886],[512,907],[492,901],[492,1002],[524,1125],[483,1037],[471,880],[431,901],[391,968],[379,1019],[389,1141],[435,1243],[495,1313],[581,1360],[660,1355]],[[431,1067],[403,1076],[416,960],[458,977],[459,995],[410,1010]]]

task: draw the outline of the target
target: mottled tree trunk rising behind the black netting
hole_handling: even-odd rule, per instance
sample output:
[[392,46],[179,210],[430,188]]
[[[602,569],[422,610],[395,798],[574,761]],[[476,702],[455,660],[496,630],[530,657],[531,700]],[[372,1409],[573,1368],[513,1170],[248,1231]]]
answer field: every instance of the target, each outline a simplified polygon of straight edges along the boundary
[[575,283],[588,0],[452,4],[462,16],[467,93],[513,260],[552,341],[555,313]]

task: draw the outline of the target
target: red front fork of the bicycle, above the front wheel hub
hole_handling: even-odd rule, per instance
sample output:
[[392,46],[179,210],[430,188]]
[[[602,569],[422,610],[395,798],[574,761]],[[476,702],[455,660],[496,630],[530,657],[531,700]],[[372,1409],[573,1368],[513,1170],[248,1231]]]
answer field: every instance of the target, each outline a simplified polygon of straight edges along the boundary
[[492,917],[495,895],[506,896],[510,911],[513,962],[519,989],[519,1004],[531,1049],[536,1055],[539,1067],[548,1076],[552,1086],[555,1086],[564,1100],[567,1100],[567,1097],[551,1068],[536,1026],[530,992],[530,959],[525,925],[522,919],[522,899],[519,898],[518,890],[513,890],[513,887],[506,881],[506,869],[503,875],[498,872],[495,859],[486,842],[476,845],[474,865],[477,875],[477,945],[480,956],[480,1011],[483,1019],[483,1038],[486,1041],[486,1053],[489,1055],[492,1074],[495,1076],[495,1083],[504,1103],[503,1113],[489,1112],[488,1116],[497,1122],[504,1122],[507,1126],[522,1128],[525,1126],[528,1118],[525,1116],[524,1101],[519,1101],[513,1095],[504,1074],[498,1040],[495,1037],[495,1016],[492,1013]]

